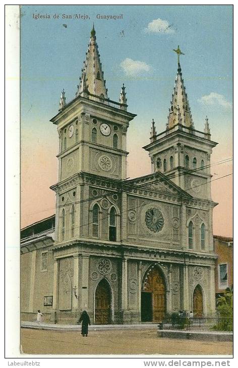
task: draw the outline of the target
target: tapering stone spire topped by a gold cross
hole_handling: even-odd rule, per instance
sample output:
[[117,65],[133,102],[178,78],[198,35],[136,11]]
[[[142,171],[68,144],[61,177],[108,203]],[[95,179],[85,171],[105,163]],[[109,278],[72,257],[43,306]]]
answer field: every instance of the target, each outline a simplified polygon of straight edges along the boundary
[[194,129],[189,100],[184,86],[182,77],[182,69],[180,65],[179,56],[183,54],[179,46],[174,50],[178,55],[177,75],[173,87],[172,100],[170,101],[168,122],[166,129],[170,129],[177,124]]

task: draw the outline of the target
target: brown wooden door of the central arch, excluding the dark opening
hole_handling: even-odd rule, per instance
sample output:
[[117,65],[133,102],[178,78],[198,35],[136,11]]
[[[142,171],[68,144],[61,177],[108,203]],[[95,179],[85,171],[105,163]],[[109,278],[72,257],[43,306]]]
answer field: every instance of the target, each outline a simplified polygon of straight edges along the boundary
[[153,268],[149,272],[144,292],[152,293],[152,321],[163,321],[166,313],[166,288],[158,268]]

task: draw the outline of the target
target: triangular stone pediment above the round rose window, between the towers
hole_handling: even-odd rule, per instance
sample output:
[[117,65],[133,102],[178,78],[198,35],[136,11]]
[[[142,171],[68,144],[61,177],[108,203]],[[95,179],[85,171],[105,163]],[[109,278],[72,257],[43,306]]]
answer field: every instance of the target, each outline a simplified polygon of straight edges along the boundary
[[161,172],[156,172],[154,174],[137,177],[132,180],[127,180],[127,183],[143,190],[152,190],[156,192],[169,193],[173,195],[182,195],[189,198],[192,196],[184,191],[182,188],[178,187],[174,182],[168,179]]

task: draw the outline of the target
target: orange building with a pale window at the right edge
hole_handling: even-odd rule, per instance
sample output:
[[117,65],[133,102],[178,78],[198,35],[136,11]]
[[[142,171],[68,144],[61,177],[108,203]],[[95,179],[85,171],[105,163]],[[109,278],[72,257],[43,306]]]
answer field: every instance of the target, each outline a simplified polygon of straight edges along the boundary
[[233,287],[233,238],[214,235],[216,297]]

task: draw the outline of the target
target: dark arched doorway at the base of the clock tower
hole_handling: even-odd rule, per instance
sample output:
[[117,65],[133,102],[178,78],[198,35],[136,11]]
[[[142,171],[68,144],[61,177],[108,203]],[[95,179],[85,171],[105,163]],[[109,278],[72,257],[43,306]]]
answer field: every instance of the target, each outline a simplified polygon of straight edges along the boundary
[[111,322],[111,290],[108,282],[102,279],[95,293],[95,324],[106,325]]

